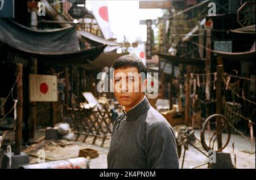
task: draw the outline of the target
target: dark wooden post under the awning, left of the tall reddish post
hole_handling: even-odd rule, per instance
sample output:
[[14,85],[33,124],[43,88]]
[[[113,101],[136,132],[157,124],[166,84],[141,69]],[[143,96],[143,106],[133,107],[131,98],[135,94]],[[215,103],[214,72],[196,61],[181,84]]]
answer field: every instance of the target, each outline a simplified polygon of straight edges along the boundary
[[190,79],[191,79],[191,66],[187,65],[187,79],[185,81],[185,125],[189,126],[189,110],[190,110]]

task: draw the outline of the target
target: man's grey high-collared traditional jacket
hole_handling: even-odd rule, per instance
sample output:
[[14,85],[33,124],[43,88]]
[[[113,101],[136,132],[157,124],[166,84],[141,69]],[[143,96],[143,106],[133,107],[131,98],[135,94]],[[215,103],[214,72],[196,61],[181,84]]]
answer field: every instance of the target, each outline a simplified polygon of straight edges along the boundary
[[179,168],[174,131],[147,98],[115,120],[108,168]]

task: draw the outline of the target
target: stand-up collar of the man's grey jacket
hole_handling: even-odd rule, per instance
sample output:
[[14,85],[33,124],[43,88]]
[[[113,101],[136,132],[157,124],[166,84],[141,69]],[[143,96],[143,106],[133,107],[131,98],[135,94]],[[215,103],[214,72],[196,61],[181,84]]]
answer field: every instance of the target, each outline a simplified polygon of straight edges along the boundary
[[150,103],[148,102],[146,96],[144,96],[143,100],[139,102],[139,104],[135,105],[127,112],[125,112],[123,109],[123,113],[127,116],[127,120],[134,120],[141,114],[145,113],[148,109],[150,109]]

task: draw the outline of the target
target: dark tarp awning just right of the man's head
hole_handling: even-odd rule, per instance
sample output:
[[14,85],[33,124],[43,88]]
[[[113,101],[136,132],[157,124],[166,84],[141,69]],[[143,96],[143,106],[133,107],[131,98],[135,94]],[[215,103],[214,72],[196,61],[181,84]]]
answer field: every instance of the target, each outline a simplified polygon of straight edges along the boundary
[[169,54],[160,54],[155,53],[161,58],[167,59],[169,61],[174,62],[175,64],[183,64],[183,65],[205,65],[205,61],[203,59],[198,58],[189,58],[189,57],[179,57],[176,55]]

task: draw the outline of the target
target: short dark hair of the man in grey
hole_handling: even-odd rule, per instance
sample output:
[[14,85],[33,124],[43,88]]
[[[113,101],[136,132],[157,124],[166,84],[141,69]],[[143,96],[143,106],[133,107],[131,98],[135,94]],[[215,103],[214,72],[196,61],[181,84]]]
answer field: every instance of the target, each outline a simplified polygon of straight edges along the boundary
[[147,78],[147,67],[143,64],[142,60],[138,58],[136,55],[123,55],[119,57],[117,60],[115,60],[112,66],[112,68],[115,69],[129,67],[137,67],[139,73],[143,72],[145,74],[145,77]]

